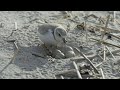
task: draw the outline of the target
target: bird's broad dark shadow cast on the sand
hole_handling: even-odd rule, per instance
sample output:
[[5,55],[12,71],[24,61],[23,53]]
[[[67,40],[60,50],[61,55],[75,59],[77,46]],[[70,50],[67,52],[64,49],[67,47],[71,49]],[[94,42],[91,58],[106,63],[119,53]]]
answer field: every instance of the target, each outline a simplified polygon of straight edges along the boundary
[[33,54],[42,54],[44,50],[38,46],[19,47],[19,51],[15,56],[14,64],[26,71],[32,71],[36,67],[42,67],[47,63],[47,59],[34,56]]

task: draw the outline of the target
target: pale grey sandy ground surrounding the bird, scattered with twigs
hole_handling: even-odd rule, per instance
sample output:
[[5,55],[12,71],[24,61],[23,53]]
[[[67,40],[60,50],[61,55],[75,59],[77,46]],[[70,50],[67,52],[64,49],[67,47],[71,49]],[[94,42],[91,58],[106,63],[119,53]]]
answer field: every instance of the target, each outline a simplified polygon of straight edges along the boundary
[[[90,13],[93,13],[98,17],[105,17],[108,15],[107,11],[73,11],[71,18],[76,22],[82,23],[84,21],[83,17]],[[120,20],[119,15],[118,12],[116,17],[118,20]],[[0,78],[55,79],[56,74],[74,68],[70,59],[55,59],[55,62],[52,63],[48,59],[32,55],[32,53],[44,53],[44,50],[37,46],[41,43],[40,38],[38,37],[37,26],[42,25],[45,22],[60,23],[65,28],[69,25],[70,30],[67,36],[68,45],[76,47],[83,45],[83,51],[86,55],[96,53],[99,49],[99,45],[93,46],[94,43],[88,41],[90,48],[87,48],[87,42],[85,35],[83,34],[84,32],[74,28],[76,26],[75,22],[69,19],[63,19],[63,17],[64,15],[60,11],[0,11],[0,70],[3,70],[3,68],[8,65],[16,51],[13,43],[6,42],[6,40],[16,40],[19,47],[14,63],[10,64],[0,73]],[[90,18],[90,20],[91,22],[96,22],[93,18]],[[12,36],[8,37],[12,33],[12,30],[15,29],[15,22],[17,22],[18,29],[14,31]],[[117,24],[110,24],[109,27],[119,29],[119,25]],[[89,36],[99,38],[92,33],[89,33]],[[108,41],[119,45],[119,40]],[[111,47],[111,49],[116,48]],[[119,61],[119,55],[115,57],[117,58],[117,61]],[[101,60],[97,58],[93,60],[95,65],[100,62]],[[113,63],[113,58],[109,56],[109,60],[100,66],[107,79],[120,78],[119,63],[117,63],[117,65],[113,65]]]

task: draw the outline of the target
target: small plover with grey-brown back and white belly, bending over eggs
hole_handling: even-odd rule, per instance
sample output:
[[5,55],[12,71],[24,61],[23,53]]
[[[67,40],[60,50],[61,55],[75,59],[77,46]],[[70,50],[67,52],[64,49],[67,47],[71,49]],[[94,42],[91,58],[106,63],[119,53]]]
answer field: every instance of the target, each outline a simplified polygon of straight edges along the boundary
[[62,46],[66,44],[66,29],[56,23],[45,23],[38,26],[40,40],[47,46]]

